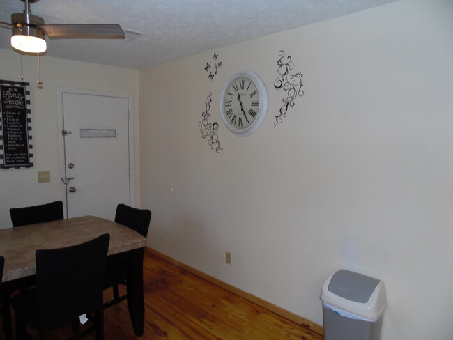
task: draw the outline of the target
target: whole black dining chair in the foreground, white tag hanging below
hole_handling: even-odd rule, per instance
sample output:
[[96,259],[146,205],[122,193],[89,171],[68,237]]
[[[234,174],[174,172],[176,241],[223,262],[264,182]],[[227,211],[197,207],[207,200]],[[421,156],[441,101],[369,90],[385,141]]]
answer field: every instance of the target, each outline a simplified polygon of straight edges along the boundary
[[26,324],[44,340],[47,330],[91,313],[94,325],[76,337],[95,331],[96,340],[104,339],[102,291],[109,240],[106,233],[79,245],[36,250],[36,288],[11,298],[17,339],[28,339]]

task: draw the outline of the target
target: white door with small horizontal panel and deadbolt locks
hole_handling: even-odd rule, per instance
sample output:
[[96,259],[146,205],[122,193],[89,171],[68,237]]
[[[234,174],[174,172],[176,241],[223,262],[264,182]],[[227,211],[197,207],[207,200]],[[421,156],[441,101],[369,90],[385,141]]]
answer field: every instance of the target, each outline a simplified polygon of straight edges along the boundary
[[62,191],[68,217],[114,219],[131,203],[129,98],[61,92]]

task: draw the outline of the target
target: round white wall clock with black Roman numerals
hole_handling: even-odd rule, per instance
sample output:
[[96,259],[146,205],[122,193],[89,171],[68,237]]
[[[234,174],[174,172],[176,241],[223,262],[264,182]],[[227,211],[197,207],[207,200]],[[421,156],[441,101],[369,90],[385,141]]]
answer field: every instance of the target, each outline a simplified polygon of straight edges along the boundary
[[220,98],[220,114],[234,134],[248,136],[259,129],[268,111],[268,91],[251,71],[239,72],[227,82]]

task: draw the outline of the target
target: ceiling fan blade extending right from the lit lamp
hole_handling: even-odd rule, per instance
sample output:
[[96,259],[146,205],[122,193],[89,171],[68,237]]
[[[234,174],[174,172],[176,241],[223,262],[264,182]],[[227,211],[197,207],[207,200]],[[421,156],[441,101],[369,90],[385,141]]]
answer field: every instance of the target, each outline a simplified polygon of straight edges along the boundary
[[55,39],[124,39],[118,24],[56,24],[40,25],[49,38]]

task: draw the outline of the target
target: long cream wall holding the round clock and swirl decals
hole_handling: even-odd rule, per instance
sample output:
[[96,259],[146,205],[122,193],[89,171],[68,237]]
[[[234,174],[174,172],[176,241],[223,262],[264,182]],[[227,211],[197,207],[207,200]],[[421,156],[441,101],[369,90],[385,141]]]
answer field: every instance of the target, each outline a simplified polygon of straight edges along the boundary
[[[452,1],[401,0],[141,71],[151,247],[316,323],[328,275],[362,272],[387,287],[383,339],[451,339],[452,17]],[[281,49],[305,95],[274,127]],[[240,70],[269,93],[249,137],[219,110]],[[198,125],[210,92],[220,154]]]

